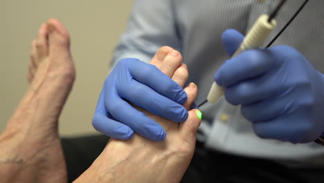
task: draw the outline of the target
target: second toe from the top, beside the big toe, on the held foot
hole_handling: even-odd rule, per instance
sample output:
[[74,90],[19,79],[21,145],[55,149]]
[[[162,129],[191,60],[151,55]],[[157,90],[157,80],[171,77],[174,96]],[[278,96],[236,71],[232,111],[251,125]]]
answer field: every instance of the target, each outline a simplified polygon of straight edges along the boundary
[[174,71],[177,70],[181,63],[182,55],[179,53],[179,51],[172,50],[168,53],[168,55],[165,56],[163,62],[161,63],[161,71],[165,73],[165,75],[172,78]]

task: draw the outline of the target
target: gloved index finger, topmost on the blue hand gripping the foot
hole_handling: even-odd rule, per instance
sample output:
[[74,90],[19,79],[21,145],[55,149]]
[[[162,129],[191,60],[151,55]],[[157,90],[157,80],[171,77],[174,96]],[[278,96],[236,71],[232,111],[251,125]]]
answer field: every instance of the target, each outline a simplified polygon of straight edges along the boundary
[[151,87],[159,94],[179,104],[183,104],[186,101],[187,94],[183,91],[183,88],[170,77],[165,76],[156,66],[139,60],[137,62],[128,62],[128,64],[129,72],[138,82]]

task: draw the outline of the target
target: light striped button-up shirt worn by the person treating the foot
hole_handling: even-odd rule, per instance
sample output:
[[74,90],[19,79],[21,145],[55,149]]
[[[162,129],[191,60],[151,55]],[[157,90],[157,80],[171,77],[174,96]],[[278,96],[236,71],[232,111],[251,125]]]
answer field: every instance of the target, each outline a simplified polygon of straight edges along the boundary
[[[125,33],[114,52],[113,66],[121,58],[150,62],[161,46],[171,46],[183,55],[188,65],[188,82],[199,87],[196,103],[206,99],[217,68],[229,57],[221,35],[228,28],[246,34],[258,17],[269,13],[279,0],[137,0]],[[302,5],[303,0],[287,1],[276,21],[278,27],[268,43]],[[324,72],[324,1],[311,0],[285,30],[276,44],[287,44],[303,53],[314,67]],[[323,106],[324,109],[324,106]],[[314,142],[291,144],[260,139],[252,125],[240,113],[240,107],[224,98],[201,107],[204,121],[199,140],[206,146],[226,153],[324,164],[324,147]],[[323,121],[324,122],[324,121]],[[322,161],[318,161],[321,159]]]

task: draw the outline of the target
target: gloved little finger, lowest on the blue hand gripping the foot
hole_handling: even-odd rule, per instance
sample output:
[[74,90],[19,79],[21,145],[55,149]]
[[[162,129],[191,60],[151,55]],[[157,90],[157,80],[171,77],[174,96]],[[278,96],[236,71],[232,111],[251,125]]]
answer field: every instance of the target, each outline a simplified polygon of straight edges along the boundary
[[102,132],[114,139],[127,140],[134,134],[133,130],[127,125],[115,121],[114,119],[109,119],[107,116],[100,113],[93,116],[92,125],[98,132]]

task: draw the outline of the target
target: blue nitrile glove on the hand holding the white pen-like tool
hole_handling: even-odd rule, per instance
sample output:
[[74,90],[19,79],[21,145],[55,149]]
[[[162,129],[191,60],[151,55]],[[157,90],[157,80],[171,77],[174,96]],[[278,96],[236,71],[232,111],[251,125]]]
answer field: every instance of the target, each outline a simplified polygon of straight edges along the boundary
[[[229,55],[243,39],[236,30],[224,32]],[[290,46],[244,51],[227,60],[215,80],[226,101],[242,105],[259,137],[306,143],[324,131],[324,76]]]

